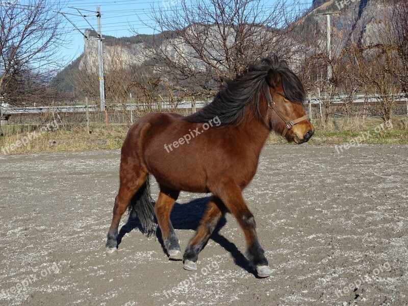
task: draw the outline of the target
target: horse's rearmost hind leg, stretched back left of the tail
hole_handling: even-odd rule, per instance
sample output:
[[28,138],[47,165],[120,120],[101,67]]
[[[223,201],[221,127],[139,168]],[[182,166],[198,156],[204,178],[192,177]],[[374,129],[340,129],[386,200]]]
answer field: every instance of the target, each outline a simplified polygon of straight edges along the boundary
[[129,202],[133,195],[143,186],[147,175],[147,172],[135,175],[135,173],[129,170],[129,168],[121,165],[119,192],[115,198],[113,217],[106,243],[106,252],[108,255],[117,253],[117,237],[120,219],[129,206]]

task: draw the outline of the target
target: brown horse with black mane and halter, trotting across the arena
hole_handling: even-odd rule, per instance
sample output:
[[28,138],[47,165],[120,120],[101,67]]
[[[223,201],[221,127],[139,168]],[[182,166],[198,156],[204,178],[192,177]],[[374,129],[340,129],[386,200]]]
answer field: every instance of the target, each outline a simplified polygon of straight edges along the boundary
[[[304,98],[299,78],[274,56],[226,81],[212,103],[191,116],[149,113],[140,118],[131,126],[121,150],[120,187],[107,253],[117,252],[119,221],[129,208],[147,233],[154,228],[156,215],[169,258],[184,260],[185,269],[195,270],[198,253],[228,211],[242,227],[250,264],[259,276],[269,276],[272,269],[242,190],[257,171],[261,149],[272,130],[297,144],[312,137],[314,127],[304,112]],[[154,207],[149,173],[160,186]],[[213,194],[183,257],[170,222],[171,209],[182,190]]]

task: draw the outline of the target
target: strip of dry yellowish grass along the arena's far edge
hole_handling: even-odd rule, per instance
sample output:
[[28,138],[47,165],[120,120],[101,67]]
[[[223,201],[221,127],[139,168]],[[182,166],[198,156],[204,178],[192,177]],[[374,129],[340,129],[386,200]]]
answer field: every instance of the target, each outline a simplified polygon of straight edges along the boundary
[[[381,124],[379,118],[366,119],[364,131],[374,131]],[[361,118],[352,118],[347,122],[339,119],[331,120],[328,127],[323,129],[320,122],[313,122],[316,133],[311,144],[345,144],[362,133]],[[408,144],[408,130],[405,128],[405,118],[394,118],[393,129],[381,133],[371,133],[366,144],[376,143],[405,143]],[[91,134],[87,134],[85,127],[70,126],[66,130],[60,125],[59,130],[42,133],[39,137],[28,141],[27,145],[18,146],[28,133],[39,131],[34,125],[3,126],[5,136],[0,137],[0,155],[30,154],[36,152],[56,151],[87,151],[99,149],[119,149],[126,136],[128,125],[91,126]],[[287,144],[286,139],[271,133],[267,144]]]

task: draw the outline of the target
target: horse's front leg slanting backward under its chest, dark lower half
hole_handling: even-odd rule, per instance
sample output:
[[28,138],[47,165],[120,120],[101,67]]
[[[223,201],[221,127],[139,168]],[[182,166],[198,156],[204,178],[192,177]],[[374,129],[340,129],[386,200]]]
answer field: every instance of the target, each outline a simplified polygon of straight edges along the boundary
[[225,206],[222,201],[218,197],[212,196],[207,204],[207,210],[201,219],[200,226],[198,226],[195,236],[184,252],[184,269],[197,269],[196,261],[198,259],[198,253],[210,239],[211,234],[224,213]]

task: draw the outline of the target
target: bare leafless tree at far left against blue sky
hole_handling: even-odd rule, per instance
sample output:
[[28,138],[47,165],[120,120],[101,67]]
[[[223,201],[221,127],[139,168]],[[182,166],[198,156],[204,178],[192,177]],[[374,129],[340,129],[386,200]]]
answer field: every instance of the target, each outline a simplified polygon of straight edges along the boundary
[[22,94],[32,96],[33,90],[45,90],[62,63],[60,48],[65,36],[61,16],[55,12],[60,5],[47,0],[0,3],[0,94],[7,102]]

